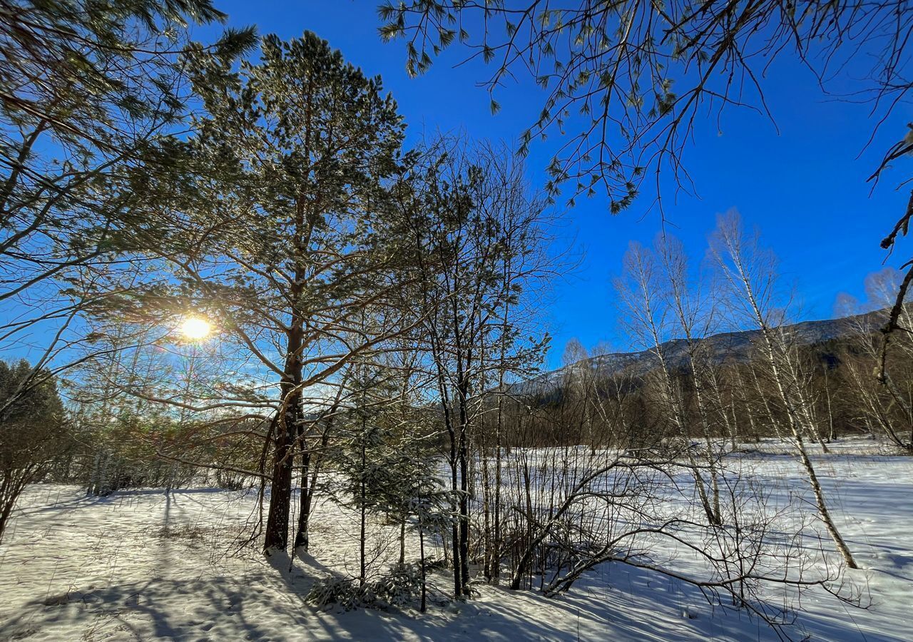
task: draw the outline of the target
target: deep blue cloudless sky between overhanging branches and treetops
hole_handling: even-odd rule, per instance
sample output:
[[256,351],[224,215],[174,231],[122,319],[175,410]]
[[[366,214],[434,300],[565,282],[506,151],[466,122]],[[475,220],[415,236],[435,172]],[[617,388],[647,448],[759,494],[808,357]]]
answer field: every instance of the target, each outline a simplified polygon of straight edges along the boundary
[[[539,90],[524,80],[499,91],[502,109],[493,116],[487,92],[476,85],[486,77],[484,65],[455,68],[456,55],[436,61],[425,76],[409,79],[403,43],[384,44],[377,35],[375,0],[215,4],[229,14],[230,25],[256,25],[260,35],[289,38],[309,29],[366,73],[380,74],[399,103],[412,141],[423,131],[436,130],[513,140],[541,108]],[[852,89],[850,73],[835,79],[834,89]],[[781,258],[784,278],[796,283],[803,317],[829,318],[838,292],[862,298],[866,274],[882,268],[885,253],[878,243],[900,216],[908,193],[897,192],[896,180],[887,180],[869,195],[866,177],[913,118],[909,106],[899,107],[864,152],[874,125],[869,105],[828,100],[806,69],[785,58],[769,69],[762,85],[779,132],[765,117],[734,109],[724,116],[721,133],[715,122],[698,127],[686,159],[698,197],[679,195],[674,205],[667,202],[667,216],[677,226],[673,233],[693,257],[701,258],[715,216],[738,208],[747,225],[760,226],[766,244]],[[550,142],[533,148],[533,181],[542,181],[552,151]],[[594,198],[568,211],[562,234],[577,237],[585,258],[573,275],[555,284],[548,310],[553,335],[549,365],[560,363],[564,343],[572,337],[586,346],[608,341],[626,347],[616,332],[611,278],[629,241],[649,243],[656,235],[658,215],[646,212],[648,205],[635,203],[610,216],[604,201]],[[901,257],[896,253],[887,265],[898,267]]]

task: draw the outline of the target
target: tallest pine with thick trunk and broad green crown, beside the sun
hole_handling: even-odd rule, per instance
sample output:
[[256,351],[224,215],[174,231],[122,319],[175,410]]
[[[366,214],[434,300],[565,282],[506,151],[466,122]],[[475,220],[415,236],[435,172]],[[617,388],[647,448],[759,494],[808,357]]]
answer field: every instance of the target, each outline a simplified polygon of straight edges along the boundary
[[[282,550],[295,459],[310,466],[304,392],[397,327],[388,319],[368,333],[357,320],[384,307],[404,262],[385,187],[400,169],[404,123],[380,79],[311,33],[265,37],[259,63],[237,72],[196,62],[207,113],[193,144],[211,170],[188,188],[198,250],[177,262],[179,277],[184,300],[253,355],[264,405],[277,400],[265,550]],[[276,395],[263,392],[270,381]]]

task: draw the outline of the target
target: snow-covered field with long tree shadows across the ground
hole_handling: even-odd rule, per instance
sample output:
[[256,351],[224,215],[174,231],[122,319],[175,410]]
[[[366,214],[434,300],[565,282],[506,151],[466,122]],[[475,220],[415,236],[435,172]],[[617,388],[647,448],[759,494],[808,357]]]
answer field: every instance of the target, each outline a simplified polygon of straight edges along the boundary
[[[913,459],[878,452],[850,442],[815,457],[863,567],[847,579],[870,605],[808,593],[786,629],[792,639],[913,640]],[[776,447],[742,457],[774,492],[807,495],[799,467]],[[617,563],[553,599],[481,586],[476,599],[448,604],[440,575],[425,615],[320,611],[305,601],[314,579],[357,574],[343,562],[356,559],[353,516],[321,505],[311,555],[289,570],[287,557],[267,560],[256,547],[230,553],[255,506],[253,494],[215,489],[102,499],[74,487],[27,489],[0,545],[0,640],[777,639],[757,618],[711,608],[687,584]]]

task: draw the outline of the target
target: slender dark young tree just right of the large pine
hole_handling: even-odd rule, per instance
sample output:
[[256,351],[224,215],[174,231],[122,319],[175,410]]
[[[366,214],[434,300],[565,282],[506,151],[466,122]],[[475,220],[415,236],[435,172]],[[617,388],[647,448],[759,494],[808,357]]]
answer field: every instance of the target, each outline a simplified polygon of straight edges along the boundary
[[412,217],[420,269],[418,341],[448,438],[457,516],[454,594],[461,597],[469,593],[472,439],[488,388],[528,370],[545,341],[520,340],[529,319],[517,310],[521,293],[546,271],[547,220],[541,200],[530,196],[522,173],[502,153],[444,141],[426,159],[398,203]]

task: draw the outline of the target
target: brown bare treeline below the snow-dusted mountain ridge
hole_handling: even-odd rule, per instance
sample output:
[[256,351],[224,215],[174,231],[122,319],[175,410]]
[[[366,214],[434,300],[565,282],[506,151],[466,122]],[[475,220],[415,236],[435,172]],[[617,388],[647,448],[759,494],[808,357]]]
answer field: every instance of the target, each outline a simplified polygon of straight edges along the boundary
[[[814,426],[810,437],[825,454],[838,437],[871,437],[904,452],[913,448],[909,395],[913,344],[895,337],[886,353],[883,337],[889,297],[897,291],[898,280],[899,274],[890,268],[869,275],[865,305],[842,296],[836,312],[844,316],[834,321],[790,322],[782,328],[790,337],[796,362],[803,364]],[[872,307],[876,310],[863,311]],[[908,316],[909,306],[901,311],[901,321]],[[732,449],[781,437],[787,417],[759,376],[758,333],[715,332],[696,338],[707,355],[707,381],[702,386],[696,382],[700,371],[687,363],[687,340],[671,340],[660,347],[685,412],[698,417],[690,425],[702,426],[703,415],[709,435],[729,440]],[[597,345],[587,351],[572,340],[565,348],[564,362],[561,370],[515,384],[509,391],[536,409],[531,420],[540,425],[531,431],[511,430],[506,437],[510,444],[640,447],[668,436],[662,406],[651,401],[656,395],[651,381],[659,367],[655,350],[614,353]],[[887,366],[884,379],[883,364]],[[707,409],[701,407],[707,396],[701,395],[702,390],[712,393]],[[588,395],[600,404],[614,404],[613,414],[587,409],[588,403],[596,403],[587,402]],[[563,415],[574,419],[555,419]],[[561,430],[545,428],[559,423],[564,426]],[[702,437],[702,433],[692,429],[689,436]]]

